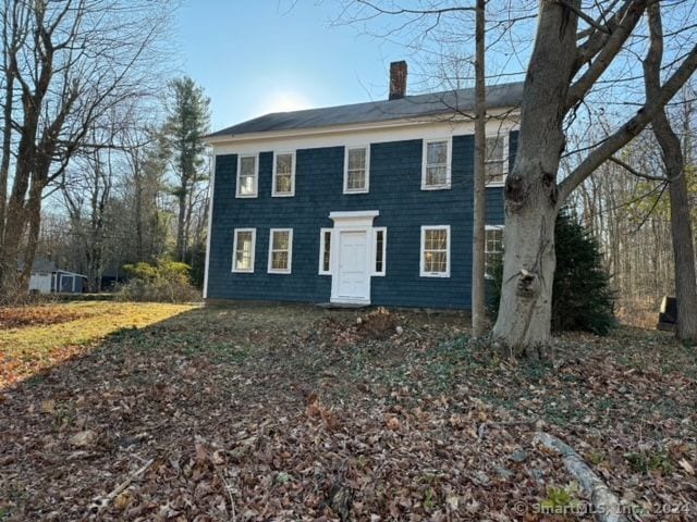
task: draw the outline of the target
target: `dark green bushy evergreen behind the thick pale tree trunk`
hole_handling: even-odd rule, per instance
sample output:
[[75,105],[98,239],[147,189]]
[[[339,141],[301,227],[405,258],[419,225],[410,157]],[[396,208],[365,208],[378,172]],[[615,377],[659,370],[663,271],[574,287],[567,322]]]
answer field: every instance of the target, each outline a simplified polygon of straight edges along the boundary
[[[557,269],[552,287],[552,330],[604,335],[616,324],[614,293],[602,265],[598,241],[562,210],[554,225]],[[491,285],[492,313],[498,313],[503,264]]]

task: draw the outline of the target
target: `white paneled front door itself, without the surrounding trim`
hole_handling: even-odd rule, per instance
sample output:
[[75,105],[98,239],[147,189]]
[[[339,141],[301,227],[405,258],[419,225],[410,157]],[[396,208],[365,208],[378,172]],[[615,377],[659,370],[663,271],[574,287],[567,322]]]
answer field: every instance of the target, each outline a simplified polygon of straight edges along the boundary
[[369,302],[368,232],[340,231],[337,291],[333,301]]

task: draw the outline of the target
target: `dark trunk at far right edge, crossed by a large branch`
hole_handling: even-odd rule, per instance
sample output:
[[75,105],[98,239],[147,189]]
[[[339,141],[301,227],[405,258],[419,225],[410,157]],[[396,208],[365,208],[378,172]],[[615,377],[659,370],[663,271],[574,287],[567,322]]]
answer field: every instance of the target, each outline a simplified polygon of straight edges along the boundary
[[[653,3],[648,8],[651,46],[644,61],[647,97],[655,97],[661,88],[663,55],[663,28],[661,8]],[[675,296],[677,297],[677,323],[675,336],[682,340],[697,341],[697,278],[695,276],[695,249],[693,245],[692,216],[685,160],[680,138],[671,127],[665,109],[661,109],[652,124],[653,135],[661,147],[665,177],[669,178],[671,201],[671,235],[675,270]]]

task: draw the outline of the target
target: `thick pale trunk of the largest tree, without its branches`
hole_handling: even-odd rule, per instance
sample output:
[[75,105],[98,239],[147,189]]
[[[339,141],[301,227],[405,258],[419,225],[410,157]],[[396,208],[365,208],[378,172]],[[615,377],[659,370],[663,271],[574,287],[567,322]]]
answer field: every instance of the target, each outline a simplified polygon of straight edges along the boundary
[[525,80],[518,150],[505,182],[503,285],[492,341],[509,356],[537,357],[550,343],[557,171],[564,149],[562,124],[574,74],[577,25],[573,10],[561,2],[541,2]]

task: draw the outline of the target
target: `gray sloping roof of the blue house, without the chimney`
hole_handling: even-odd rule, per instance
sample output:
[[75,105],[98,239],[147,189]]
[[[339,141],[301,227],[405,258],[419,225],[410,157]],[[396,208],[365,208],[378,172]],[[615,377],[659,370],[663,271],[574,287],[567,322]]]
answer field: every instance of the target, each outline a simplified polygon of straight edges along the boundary
[[[522,82],[487,87],[487,107],[490,109],[516,108],[519,107],[522,99]],[[209,137],[418,119],[473,111],[474,105],[474,89],[447,90],[428,95],[405,96],[396,100],[369,101],[293,112],[273,112],[223,128],[212,133]]]

